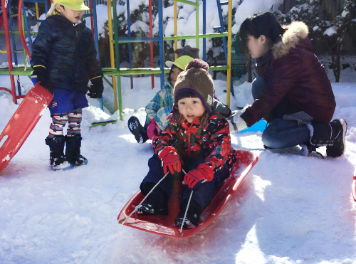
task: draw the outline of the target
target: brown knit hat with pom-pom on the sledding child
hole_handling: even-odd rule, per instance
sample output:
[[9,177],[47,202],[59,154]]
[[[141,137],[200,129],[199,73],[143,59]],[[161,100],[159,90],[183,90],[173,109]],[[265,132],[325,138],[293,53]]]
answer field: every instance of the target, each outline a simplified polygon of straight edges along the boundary
[[195,59],[187,64],[182,73],[179,73],[174,85],[174,105],[177,105],[179,93],[195,93],[210,114],[213,107],[214,83],[209,74],[209,64],[204,60]]

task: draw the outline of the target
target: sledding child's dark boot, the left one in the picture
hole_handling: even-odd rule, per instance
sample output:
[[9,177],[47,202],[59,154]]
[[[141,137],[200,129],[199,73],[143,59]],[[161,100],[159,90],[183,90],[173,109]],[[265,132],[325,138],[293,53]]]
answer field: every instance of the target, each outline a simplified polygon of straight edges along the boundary
[[168,194],[159,186],[147,197],[146,201],[137,208],[136,213],[141,216],[164,215],[168,214]]

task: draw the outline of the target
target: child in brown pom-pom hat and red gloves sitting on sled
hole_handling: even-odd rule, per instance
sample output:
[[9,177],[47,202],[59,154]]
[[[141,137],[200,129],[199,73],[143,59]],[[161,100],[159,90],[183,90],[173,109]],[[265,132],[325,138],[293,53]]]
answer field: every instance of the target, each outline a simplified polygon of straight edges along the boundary
[[142,194],[147,195],[167,174],[137,210],[142,215],[167,214],[174,179],[182,176],[183,169],[187,171],[184,176],[187,185],[179,202],[181,211],[174,222],[176,226],[182,225],[194,190],[184,228],[198,226],[201,213],[212,201],[214,189],[229,177],[236,162],[226,121],[231,111],[221,105],[219,109],[225,111],[216,111],[214,83],[208,70],[207,63],[195,59],[179,74],[174,86],[173,114],[166,129],[153,139],[155,154],[148,161],[150,171],[140,186]]

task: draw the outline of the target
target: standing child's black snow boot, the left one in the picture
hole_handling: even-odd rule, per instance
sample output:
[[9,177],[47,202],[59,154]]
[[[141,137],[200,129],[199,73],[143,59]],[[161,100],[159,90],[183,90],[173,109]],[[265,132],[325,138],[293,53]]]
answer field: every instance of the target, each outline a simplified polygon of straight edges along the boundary
[[63,154],[66,138],[63,135],[55,137],[48,136],[45,141],[50,150],[49,160],[51,167],[53,169],[66,169],[69,167],[70,164]]

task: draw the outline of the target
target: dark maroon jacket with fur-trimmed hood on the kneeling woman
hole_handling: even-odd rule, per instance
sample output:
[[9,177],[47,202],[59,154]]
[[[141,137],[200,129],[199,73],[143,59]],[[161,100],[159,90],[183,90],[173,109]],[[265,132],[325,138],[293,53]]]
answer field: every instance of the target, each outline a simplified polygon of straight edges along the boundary
[[319,122],[331,121],[335,97],[325,68],[313,53],[305,23],[291,23],[281,41],[256,62],[257,74],[267,86],[241,115],[248,127],[268,114],[282,118],[300,111]]

